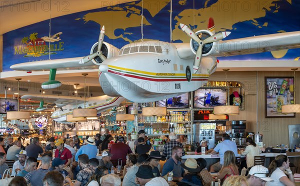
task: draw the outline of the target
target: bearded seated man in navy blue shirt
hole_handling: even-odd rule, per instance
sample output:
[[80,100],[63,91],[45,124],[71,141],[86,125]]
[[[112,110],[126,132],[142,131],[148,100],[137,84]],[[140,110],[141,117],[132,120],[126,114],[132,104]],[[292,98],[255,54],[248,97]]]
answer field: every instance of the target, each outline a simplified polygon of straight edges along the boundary
[[173,171],[173,180],[180,181],[185,174],[184,169],[180,165],[182,157],[182,147],[174,146],[171,152],[171,157],[167,161],[165,161],[163,165],[161,176],[164,176],[168,172]]

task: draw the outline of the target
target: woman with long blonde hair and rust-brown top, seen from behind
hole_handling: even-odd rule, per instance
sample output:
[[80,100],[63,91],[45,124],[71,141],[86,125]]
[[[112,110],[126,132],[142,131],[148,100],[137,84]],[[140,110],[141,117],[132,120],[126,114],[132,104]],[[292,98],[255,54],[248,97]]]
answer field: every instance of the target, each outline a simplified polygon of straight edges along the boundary
[[238,167],[235,164],[235,155],[231,150],[224,153],[224,164],[216,176],[216,180],[220,179],[222,182],[231,175],[238,175]]

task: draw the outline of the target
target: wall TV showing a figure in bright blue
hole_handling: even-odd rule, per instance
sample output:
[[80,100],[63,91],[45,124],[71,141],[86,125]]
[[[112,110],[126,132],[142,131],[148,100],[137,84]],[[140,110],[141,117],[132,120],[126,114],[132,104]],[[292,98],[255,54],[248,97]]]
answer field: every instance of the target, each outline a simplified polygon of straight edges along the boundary
[[213,108],[219,105],[226,105],[225,88],[206,87],[194,91],[194,108]]

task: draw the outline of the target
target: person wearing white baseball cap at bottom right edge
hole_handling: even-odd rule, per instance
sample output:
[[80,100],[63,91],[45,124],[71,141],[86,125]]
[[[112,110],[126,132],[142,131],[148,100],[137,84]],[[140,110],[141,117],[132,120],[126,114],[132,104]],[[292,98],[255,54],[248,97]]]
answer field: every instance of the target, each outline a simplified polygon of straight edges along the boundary
[[255,165],[249,170],[247,177],[248,185],[264,186],[266,181],[274,181],[272,178],[267,176],[268,169],[262,165]]

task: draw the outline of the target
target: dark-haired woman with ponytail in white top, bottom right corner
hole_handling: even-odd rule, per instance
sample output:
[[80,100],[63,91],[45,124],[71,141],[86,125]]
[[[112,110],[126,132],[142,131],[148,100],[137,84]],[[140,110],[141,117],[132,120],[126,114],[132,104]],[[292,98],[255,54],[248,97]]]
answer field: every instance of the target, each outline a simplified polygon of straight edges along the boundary
[[[289,160],[286,155],[277,155],[270,163],[268,170],[274,182],[267,181],[265,185],[295,185],[295,180],[289,168]],[[283,172],[284,170],[287,172],[288,177]]]

